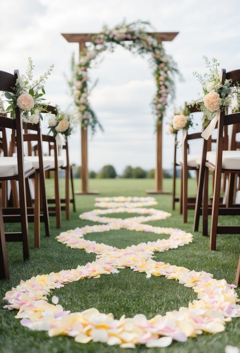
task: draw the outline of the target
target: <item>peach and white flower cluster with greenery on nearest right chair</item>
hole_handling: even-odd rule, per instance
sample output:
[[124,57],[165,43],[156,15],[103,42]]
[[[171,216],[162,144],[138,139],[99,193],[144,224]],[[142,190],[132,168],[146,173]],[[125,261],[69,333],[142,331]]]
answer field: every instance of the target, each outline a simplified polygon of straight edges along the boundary
[[209,122],[215,117],[216,113],[224,112],[227,107],[230,107],[234,96],[238,97],[240,95],[240,90],[238,84],[236,86],[232,85],[231,79],[226,79],[224,83],[221,83],[217,59],[213,58],[212,64],[207,56],[204,55],[203,59],[209,73],[204,74],[204,76],[197,72],[193,72],[193,74],[201,83],[204,95],[192,101],[192,104],[196,104],[202,110],[203,120]]

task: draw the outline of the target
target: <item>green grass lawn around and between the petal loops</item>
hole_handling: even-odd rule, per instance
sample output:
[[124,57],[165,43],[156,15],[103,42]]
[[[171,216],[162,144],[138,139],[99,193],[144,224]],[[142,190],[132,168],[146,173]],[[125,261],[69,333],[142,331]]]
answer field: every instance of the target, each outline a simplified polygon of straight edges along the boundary
[[[64,180],[60,180],[61,190],[64,190]],[[75,190],[81,189],[79,179],[75,181]],[[177,181],[179,182],[179,180]],[[46,180],[48,195],[53,190],[52,180]],[[179,185],[177,185],[179,190]],[[195,180],[190,180],[189,190],[194,195]],[[105,196],[146,196],[146,189],[154,189],[152,179],[90,179],[89,190],[99,190],[101,197]],[[172,180],[164,180],[164,189],[172,189]],[[71,220],[65,221],[62,213],[62,228],[56,229],[56,221],[50,218],[50,238],[44,236],[44,227],[41,225],[42,237],[40,249],[33,248],[33,224],[29,225],[30,233],[30,260],[23,262],[23,252],[20,243],[8,243],[8,262],[10,267],[10,280],[1,281],[1,298],[5,292],[16,287],[21,279],[27,280],[38,274],[58,272],[62,269],[76,268],[78,264],[85,265],[94,261],[94,254],[87,254],[83,250],[70,249],[55,240],[61,231],[93,225],[90,221],[79,219],[83,211],[94,209],[95,195],[76,195],[77,211],[71,212]],[[158,205],[155,208],[172,213],[172,217],[163,221],[150,222],[154,226],[180,228],[192,233],[194,211],[188,211],[188,223],[184,224],[182,216],[176,210],[171,210],[171,195],[156,195]],[[118,216],[118,215],[116,215]],[[121,217],[121,215],[119,215]],[[227,220],[228,224],[239,224],[239,217],[227,216],[220,218]],[[209,217],[210,223],[210,217]],[[6,225],[5,230],[16,229],[17,225]],[[201,229],[201,221],[200,221]],[[157,261],[169,262],[172,265],[184,266],[190,270],[212,273],[216,279],[226,279],[233,283],[239,257],[240,235],[218,235],[217,251],[209,251],[209,237],[202,237],[201,232],[192,233],[194,241],[190,245],[179,247],[162,253],[156,253]],[[157,240],[156,234],[145,232],[131,232],[126,229],[110,231],[99,234],[87,234],[86,239],[96,240],[99,243],[126,247],[143,241]],[[237,289],[240,295],[240,290]],[[131,269],[120,270],[119,274],[101,275],[100,279],[86,279],[69,283],[64,288],[53,292],[59,298],[65,310],[82,311],[89,307],[96,307],[101,312],[112,312],[116,318],[122,314],[132,317],[144,313],[147,318],[166,311],[187,306],[189,300],[196,299],[196,294],[191,288],[179,285],[177,281],[166,280],[165,277],[152,276],[146,279],[146,274],[135,273]],[[53,295],[52,294],[52,295]],[[1,300],[1,307],[6,304]],[[0,309],[0,352],[4,353],[45,353],[45,352],[132,352],[118,346],[107,346],[103,343],[89,342],[86,345],[75,343],[71,337],[49,337],[45,332],[30,331],[20,325],[20,320],[15,319],[17,311]],[[216,335],[202,334],[195,339],[188,339],[185,343],[173,342],[167,348],[147,349],[138,346],[135,352],[192,352],[192,353],[220,353],[224,352],[226,345],[240,347],[240,318],[235,318],[226,324],[226,330]]]

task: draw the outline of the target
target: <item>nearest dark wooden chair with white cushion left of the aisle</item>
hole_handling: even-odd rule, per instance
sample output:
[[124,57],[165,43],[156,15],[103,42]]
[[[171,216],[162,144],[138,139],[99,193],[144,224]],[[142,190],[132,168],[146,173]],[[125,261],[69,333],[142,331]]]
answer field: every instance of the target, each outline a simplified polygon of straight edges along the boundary
[[[0,91],[13,92],[16,79],[19,78],[18,70],[14,71],[14,75],[0,71]],[[23,149],[23,124],[20,117],[19,108],[15,109],[15,119],[7,118],[0,115],[0,126],[16,130],[16,144],[18,154],[17,157],[0,157],[0,182],[2,180],[18,180],[19,182],[19,209],[18,220],[21,223],[21,232],[5,233],[4,221],[2,215],[2,207],[0,200],[0,278],[8,279],[9,270],[7,264],[6,241],[21,241],[23,243],[23,258],[29,258],[29,233],[27,223],[27,208],[26,208],[26,192],[25,192],[25,178],[35,172],[32,163],[24,161]],[[12,216],[8,220],[12,222]]]

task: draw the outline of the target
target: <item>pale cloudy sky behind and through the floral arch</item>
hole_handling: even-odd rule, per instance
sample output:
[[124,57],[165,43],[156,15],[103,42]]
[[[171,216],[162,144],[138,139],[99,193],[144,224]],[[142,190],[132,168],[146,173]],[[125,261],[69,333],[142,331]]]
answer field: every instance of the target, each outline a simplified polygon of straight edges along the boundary
[[[222,0],[1,0],[0,69],[24,73],[31,56],[37,78],[54,63],[45,85],[46,98],[64,109],[72,103],[64,74],[70,76],[70,59],[72,53],[78,58],[78,44],[68,43],[61,33],[97,33],[103,24],[112,28],[124,18],[148,20],[157,32],[179,32],[163,45],[184,77],[184,82],[176,78],[175,104],[182,106],[201,91],[192,72],[206,72],[203,55],[217,58],[227,71],[239,68],[239,9],[239,0],[227,5]],[[89,169],[98,171],[105,164],[113,164],[118,173],[128,164],[154,168],[156,137],[150,102],[155,85],[148,57],[117,47],[102,58],[90,72],[92,83],[99,78],[90,102],[104,133],[93,137],[89,133]],[[164,120],[164,168],[171,168],[173,161],[173,138],[165,133],[168,118],[171,106]],[[46,122],[43,128],[46,132]],[[70,140],[71,162],[80,165],[80,155],[78,127]]]

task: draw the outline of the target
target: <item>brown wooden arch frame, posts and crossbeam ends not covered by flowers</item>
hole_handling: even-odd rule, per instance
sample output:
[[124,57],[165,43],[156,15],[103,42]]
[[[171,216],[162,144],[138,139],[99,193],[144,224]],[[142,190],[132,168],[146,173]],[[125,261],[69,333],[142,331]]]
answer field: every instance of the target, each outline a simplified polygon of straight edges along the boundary
[[[172,41],[178,32],[150,32],[158,43]],[[93,42],[94,33],[62,33],[68,42],[79,43],[79,52],[86,46],[87,42]],[[88,139],[87,129],[81,128],[81,156],[82,156],[82,191],[81,194],[96,194],[97,191],[88,191]],[[157,166],[155,170],[156,190],[146,190],[147,193],[168,193],[162,190],[163,169],[162,169],[162,121],[157,126]]]

